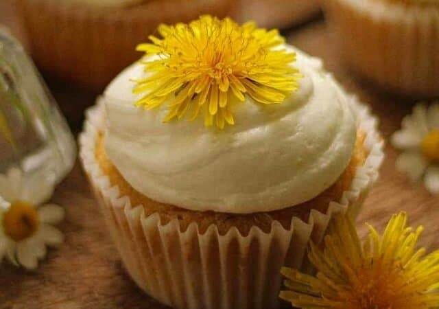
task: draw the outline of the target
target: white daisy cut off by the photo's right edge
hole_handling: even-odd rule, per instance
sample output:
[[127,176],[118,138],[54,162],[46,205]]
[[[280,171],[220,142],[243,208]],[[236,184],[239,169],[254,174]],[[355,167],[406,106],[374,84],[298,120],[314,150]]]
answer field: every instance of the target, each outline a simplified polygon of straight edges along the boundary
[[439,194],[439,102],[429,108],[424,104],[414,106],[391,142],[403,150],[396,159],[396,170],[412,181],[423,179],[429,192]]

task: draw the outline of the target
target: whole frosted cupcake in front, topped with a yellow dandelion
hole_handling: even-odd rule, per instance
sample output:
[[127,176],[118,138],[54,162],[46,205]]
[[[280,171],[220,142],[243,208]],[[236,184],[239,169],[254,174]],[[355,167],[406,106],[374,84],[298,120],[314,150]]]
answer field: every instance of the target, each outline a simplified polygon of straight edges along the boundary
[[377,122],[276,30],[161,25],[86,115],[82,163],[134,282],[174,308],[277,308],[378,176]]

